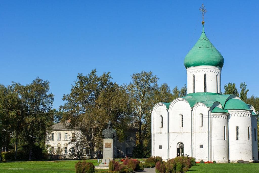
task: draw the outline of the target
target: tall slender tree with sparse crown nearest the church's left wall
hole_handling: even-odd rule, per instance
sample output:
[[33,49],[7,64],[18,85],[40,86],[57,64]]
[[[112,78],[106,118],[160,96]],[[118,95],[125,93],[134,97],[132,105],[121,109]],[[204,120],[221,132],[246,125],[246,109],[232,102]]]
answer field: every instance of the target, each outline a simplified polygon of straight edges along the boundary
[[128,85],[130,94],[134,125],[138,129],[137,145],[143,152],[143,141],[150,128],[150,104],[148,104],[148,93],[155,90],[158,78],[152,72],[141,71],[133,73],[132,82]]

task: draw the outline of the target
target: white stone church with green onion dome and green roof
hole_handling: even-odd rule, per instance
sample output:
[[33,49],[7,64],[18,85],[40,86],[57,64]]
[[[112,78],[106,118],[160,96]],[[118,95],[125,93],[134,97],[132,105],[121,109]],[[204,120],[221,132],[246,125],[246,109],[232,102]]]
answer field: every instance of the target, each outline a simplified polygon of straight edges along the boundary
[[189,155],[219,163],[258,161],[257,118],[252,105],[221,94],[224,59],[204,32],[184,59],[187,96],[152,110],[151,155]]

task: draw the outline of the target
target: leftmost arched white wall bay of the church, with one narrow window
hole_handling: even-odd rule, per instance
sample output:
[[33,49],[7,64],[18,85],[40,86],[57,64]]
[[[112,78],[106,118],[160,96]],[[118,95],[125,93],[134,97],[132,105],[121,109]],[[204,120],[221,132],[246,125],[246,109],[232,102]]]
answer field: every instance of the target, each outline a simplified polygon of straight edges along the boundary
[[[163,127],[161,127],[161,117],[163,116]],[[161,156],[163,160],[167,158],[168,149],[168,116],[167,108],[163,103],[157,103],[152,110],[152,156]],[[162,146],[162,148],[159,148]]]

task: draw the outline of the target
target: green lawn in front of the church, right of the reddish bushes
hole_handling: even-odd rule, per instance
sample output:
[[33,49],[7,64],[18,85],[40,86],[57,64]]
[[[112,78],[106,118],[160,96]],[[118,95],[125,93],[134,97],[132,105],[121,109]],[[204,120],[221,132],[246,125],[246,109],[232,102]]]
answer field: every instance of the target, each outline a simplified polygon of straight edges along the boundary
[[188,172],[259,172],[259,163],[197,163],[197,165],[191,167]]

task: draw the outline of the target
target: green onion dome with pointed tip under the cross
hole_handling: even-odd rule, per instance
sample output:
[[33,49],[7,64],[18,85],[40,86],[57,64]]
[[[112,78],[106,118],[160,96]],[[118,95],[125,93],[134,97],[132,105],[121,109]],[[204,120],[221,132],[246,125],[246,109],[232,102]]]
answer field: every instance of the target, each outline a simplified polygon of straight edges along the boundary
[[185,68],[205,65],[222,68],[223,64],[223,56],[205,35],[203,25],[202,35],[184,59]]

